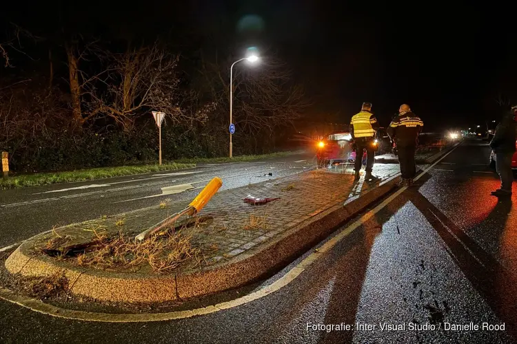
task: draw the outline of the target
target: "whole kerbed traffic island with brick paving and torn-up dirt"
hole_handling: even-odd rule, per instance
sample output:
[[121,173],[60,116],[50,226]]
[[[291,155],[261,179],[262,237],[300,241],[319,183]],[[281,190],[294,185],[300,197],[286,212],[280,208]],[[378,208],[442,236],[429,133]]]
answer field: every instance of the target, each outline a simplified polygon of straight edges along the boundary
[[[398,166],[367,184],[317,170],[217,193],[199,215],[143,242],[145,228],[185,208],[166,202],[36,235],[5,261],[3,284],[39,299],[166,303],[268,277],[395,187]],[[251,205],[248,195],[272,202]]]

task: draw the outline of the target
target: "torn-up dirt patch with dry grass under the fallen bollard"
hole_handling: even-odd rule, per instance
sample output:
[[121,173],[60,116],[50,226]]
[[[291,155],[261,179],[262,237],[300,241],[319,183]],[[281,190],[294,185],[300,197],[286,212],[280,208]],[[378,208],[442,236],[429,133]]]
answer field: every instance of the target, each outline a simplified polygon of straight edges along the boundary
[[52,231],[34,249],[74,266],[157,273],[171,272],[180,266],[199,268],[206,263],[205,253],[214,252],[210,244],[194,239],[212,224],[210,216],[185,219],[144,241],[137,241],[135,231],[125,230],[126,226],[118,224],[120,221],[119,218],[114,222],[114,226],[119,226],[116,233],[106,226],[92,224],[74,236]]

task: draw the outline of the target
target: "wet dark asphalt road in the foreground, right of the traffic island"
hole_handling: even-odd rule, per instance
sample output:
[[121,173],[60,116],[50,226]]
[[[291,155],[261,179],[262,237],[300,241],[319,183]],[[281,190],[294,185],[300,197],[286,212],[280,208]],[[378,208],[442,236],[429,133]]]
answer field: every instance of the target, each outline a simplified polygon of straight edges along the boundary
[[[4,343],[515,343],[517,211],[489,192],[489,149],[466,141],[287,286],[205,316],[89,323],[0,303]],[[298,264],[295,261],[283,272]],[[505,324],[504,331],[444,330]],[[353,331],[307,330],[307,323]],[[376,325],[358,330],[356,323]],[[383,331],[382,323],[405,325]],[[440,325],[440,330],[411,330]]]

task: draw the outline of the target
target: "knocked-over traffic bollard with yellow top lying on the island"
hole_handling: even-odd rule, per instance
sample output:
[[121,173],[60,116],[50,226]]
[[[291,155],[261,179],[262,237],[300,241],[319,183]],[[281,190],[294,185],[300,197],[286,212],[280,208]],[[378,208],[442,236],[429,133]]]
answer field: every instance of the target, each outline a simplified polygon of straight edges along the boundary
[[157,224],[154,224],[154,226],[151,226],[139,235],[136,235],[135,239],[138,241],[142,241],[150,235],[159,233],[160,230],[163,230],[164,228],[174,224],[183,215],[196,215],[201,211],[201,209],[203,209],[203,207],[208,203],[208,201],[210,201],[210,199],[215,195],[215,193],[221,188],[222,185],[223,181],[219,177],[210,180],[210,183],[208,183],[207,186],[205,186],[205,188],[201,190],[199,195],[197,195],[196,198],[194,198],[194,200],[190,202],[187,208],[183,209],[182,211],[179,211],[178,213],[170,215],[169,217],[163,219],[163,221]]

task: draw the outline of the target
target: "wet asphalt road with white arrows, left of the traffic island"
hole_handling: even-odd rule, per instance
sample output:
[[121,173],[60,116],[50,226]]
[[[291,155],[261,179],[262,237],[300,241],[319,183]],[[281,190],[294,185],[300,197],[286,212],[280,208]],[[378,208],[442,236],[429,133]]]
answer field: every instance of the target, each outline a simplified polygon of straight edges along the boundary
[[[125,213],[165,199],[185,200],[186,205],[215,176],[224,180],[222,191],[300,173],[314,166],[314,153],[299,153],[256,162],[200,164],[194,169],[0,191],[0,247],[52,226]],[[161,188],[180,184],[191,184],[196,189],[163,195]]]

